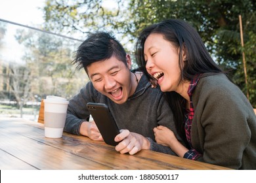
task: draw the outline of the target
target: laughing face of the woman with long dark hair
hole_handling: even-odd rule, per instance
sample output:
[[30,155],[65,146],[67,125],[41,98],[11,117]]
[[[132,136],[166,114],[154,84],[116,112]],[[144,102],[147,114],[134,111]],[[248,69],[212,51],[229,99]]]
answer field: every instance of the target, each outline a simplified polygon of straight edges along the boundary
[[162,92],[179,93],[179,48],[163,39],[163,35],[152,33],[144,43],[144,59],[146,70],[158,80]]

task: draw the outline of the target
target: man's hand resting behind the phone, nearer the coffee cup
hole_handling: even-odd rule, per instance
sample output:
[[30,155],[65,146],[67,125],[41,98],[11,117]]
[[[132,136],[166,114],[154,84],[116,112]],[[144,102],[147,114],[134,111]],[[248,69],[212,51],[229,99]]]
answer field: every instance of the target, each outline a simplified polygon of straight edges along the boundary
[[103,141],[95,122],[83,122],[80,126],[80,134],[89,137],[93,141]]

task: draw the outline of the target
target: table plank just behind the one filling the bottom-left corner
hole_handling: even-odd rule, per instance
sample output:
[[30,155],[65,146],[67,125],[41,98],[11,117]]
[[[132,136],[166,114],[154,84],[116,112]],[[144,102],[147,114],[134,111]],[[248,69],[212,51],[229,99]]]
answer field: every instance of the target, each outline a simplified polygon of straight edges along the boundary
[[[0,148],[35,169],[111,169],[75,154],[0,128]],[[16,169],[16,166],[14,167]]]

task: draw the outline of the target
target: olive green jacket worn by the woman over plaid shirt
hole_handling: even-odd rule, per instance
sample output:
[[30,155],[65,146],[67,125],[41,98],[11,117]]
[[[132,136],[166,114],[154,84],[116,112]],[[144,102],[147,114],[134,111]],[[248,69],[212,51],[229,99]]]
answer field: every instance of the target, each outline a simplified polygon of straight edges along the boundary
[[192,94],[192,146],[198,161],[256,169],[256,116],[244,93],[223,74],[200,78]]

